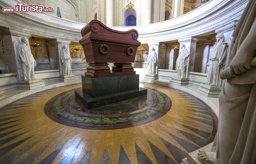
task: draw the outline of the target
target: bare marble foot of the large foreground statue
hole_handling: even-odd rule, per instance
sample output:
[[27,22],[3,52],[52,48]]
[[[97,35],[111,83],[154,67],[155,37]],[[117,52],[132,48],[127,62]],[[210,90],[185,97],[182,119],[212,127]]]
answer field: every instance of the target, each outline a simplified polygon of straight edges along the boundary
[[198,151],[197,157],[203,164],[216,164],[216,152]]

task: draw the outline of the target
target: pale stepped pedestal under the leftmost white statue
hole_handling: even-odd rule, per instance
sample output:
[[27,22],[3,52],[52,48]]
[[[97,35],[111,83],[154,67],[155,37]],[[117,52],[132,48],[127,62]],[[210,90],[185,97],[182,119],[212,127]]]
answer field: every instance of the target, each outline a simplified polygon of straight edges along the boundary
[[45,86],[42,79],[36,79],[31,81],[17,81],[17,84],[19,89],[34,89]]

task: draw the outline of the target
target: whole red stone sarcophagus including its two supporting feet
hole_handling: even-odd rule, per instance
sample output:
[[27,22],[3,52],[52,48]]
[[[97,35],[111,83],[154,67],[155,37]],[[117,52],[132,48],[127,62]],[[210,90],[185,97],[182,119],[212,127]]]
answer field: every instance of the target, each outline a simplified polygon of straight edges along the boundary
[[[108,28],[100,21],[92,20],[81,30],[79,43],[84,49],[86,61],[89,62],[86,76],[108,77],[134,75],[132,67],[137,48],[138,32],[135,29],[122,32]],[[113,62],[112,71],[108,63]]]

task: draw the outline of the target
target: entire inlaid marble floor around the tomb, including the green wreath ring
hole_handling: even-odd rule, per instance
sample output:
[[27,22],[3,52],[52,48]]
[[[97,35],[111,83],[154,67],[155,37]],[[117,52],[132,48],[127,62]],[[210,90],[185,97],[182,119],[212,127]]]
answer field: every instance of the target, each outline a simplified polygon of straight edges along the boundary
[[87,110],[81,84],[50,89],[0,109],[0,163],[177,164],[213,141],[217,117],[191,94],[156,84],[139,97]]

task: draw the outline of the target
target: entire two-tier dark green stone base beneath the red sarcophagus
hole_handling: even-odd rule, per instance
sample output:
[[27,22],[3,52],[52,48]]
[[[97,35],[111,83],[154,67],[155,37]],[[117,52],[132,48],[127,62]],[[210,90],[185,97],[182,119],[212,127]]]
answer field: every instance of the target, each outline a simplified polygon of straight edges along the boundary
[[110,77],[82,76],[82,90],[75,97],[87,108],[97,108],[147,94],[139,88],[139,75]]

